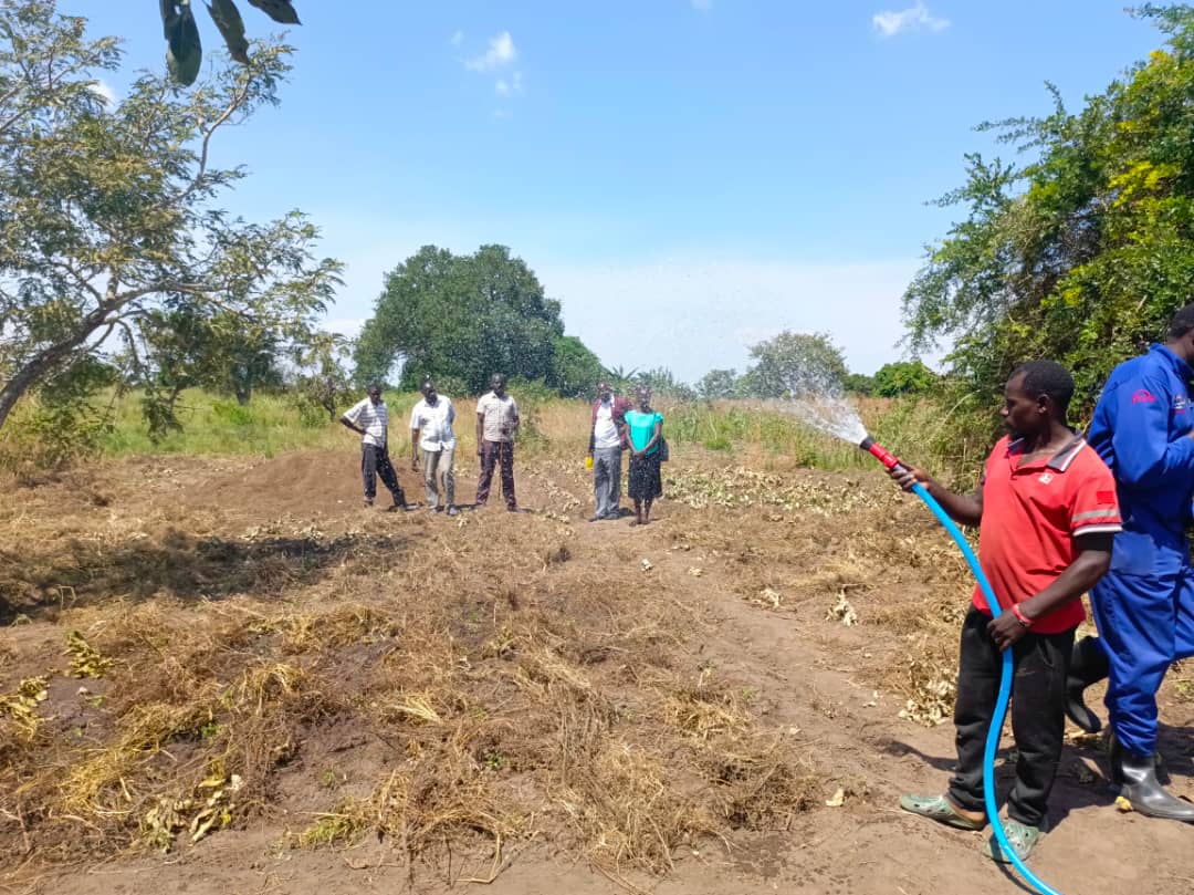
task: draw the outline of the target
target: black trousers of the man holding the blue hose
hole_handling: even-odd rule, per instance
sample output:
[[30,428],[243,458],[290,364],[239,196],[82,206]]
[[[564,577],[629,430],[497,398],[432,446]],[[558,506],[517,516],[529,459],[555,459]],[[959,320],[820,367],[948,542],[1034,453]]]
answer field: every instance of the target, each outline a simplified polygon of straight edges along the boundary
[[[1003,656],[986,632],[990,619],[971,607],[962,623],[958,663],[958,773],[949,798],[959,808],[984,811],[983,748],[999,694]],[[1016,783],[1008,796],[1008,816],[1039,827],[1061,760],[1065,735],[1065,675],[1073,629],[1059,635],[1027,633],[1013,650],[1011,731],[1020,752]],[[999,719],[1002,724],[1002,718]]]

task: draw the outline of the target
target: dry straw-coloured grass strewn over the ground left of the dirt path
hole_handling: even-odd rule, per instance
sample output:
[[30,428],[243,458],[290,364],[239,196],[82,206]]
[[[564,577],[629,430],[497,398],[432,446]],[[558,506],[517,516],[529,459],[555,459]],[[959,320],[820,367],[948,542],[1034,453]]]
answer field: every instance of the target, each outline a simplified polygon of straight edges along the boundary
[[295,847],[370,834],[412,868],[450,848],[464,875],[549,838],[663,872],[682,844],[813,804],[813,768],[741,685],[689,670],[687,582],[576,562],[571,456],[536,464],[540,516],[417,539],[380,515],[189,515],[159,497],[190,486],[185,462],[105,472],[0,516],[0,596],[33,619],[0,673],[8,860],[190,848],[284,807],[308,817]]

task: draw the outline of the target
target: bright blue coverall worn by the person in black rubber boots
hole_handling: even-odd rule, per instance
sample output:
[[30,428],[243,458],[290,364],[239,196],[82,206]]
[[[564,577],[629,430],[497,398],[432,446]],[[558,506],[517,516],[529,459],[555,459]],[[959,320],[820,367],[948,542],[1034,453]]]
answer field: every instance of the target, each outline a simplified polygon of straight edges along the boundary
[[1194,492],[1194,378],[1164,345],[1116,367],[1088,441],[1115,476],[1124,531],[1090,602],[1110,663],[1112,730],[1137,755],[1157,744],[1157,689],[1194,655],[1194,571],[1184,525]]

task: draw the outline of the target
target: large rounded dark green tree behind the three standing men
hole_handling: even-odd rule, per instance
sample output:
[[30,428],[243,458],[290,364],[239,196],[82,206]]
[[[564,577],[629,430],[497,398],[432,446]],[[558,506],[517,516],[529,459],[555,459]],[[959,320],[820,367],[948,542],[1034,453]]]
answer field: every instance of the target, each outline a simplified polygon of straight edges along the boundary
[[599,375],[596,356],[564,335],[560,304],[527,263],[500,245],[458,256],[424,246],[386,277],[374,317],[356,350],[357,378],[383,380],[400,368],[400,385],[450,378],[473,393],[493,373],[542,379],[577,394]]

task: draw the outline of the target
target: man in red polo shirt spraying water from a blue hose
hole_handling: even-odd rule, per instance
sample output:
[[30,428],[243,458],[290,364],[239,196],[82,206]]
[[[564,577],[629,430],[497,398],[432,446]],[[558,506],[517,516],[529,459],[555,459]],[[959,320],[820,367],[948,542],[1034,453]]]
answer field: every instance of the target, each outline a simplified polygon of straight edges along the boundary
[[[1003,406],[1010,435],[995,446],[972,497],[919,470],[892,472],[905,490],[923,484],[959,523],[979,526],[979,562],[1009,609],[992,620],[974,589],[958,668],[958,772],[943,796],[904,796],[900,808],[961,829],[986,826],[983,747],[999,689],[1001,652],[1011,649],[1011,729],[1020,758],[1004,829],[1021,859],[1041,835],[1061,758],[1066,672],[1073,630],[1085,618],[1081,597],[1110,565],[1112,539],[1120,531],[1110,471],[1066,425],[1072,396],[1073,379],[1054,361],[1013,372]],[[993,836],[985,852],[1005,860]]]

